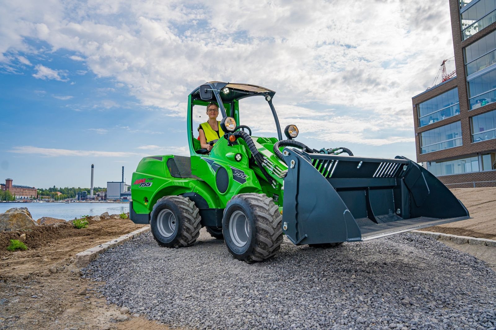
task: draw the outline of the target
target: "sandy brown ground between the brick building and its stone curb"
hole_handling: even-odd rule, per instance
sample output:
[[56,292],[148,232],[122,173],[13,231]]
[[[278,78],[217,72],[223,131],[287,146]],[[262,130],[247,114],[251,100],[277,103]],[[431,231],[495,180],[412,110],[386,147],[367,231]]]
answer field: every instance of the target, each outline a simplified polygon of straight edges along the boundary
[[496,239],[496,187],[451,189],[465,205],[470,217],[422,230],[460,236]]

